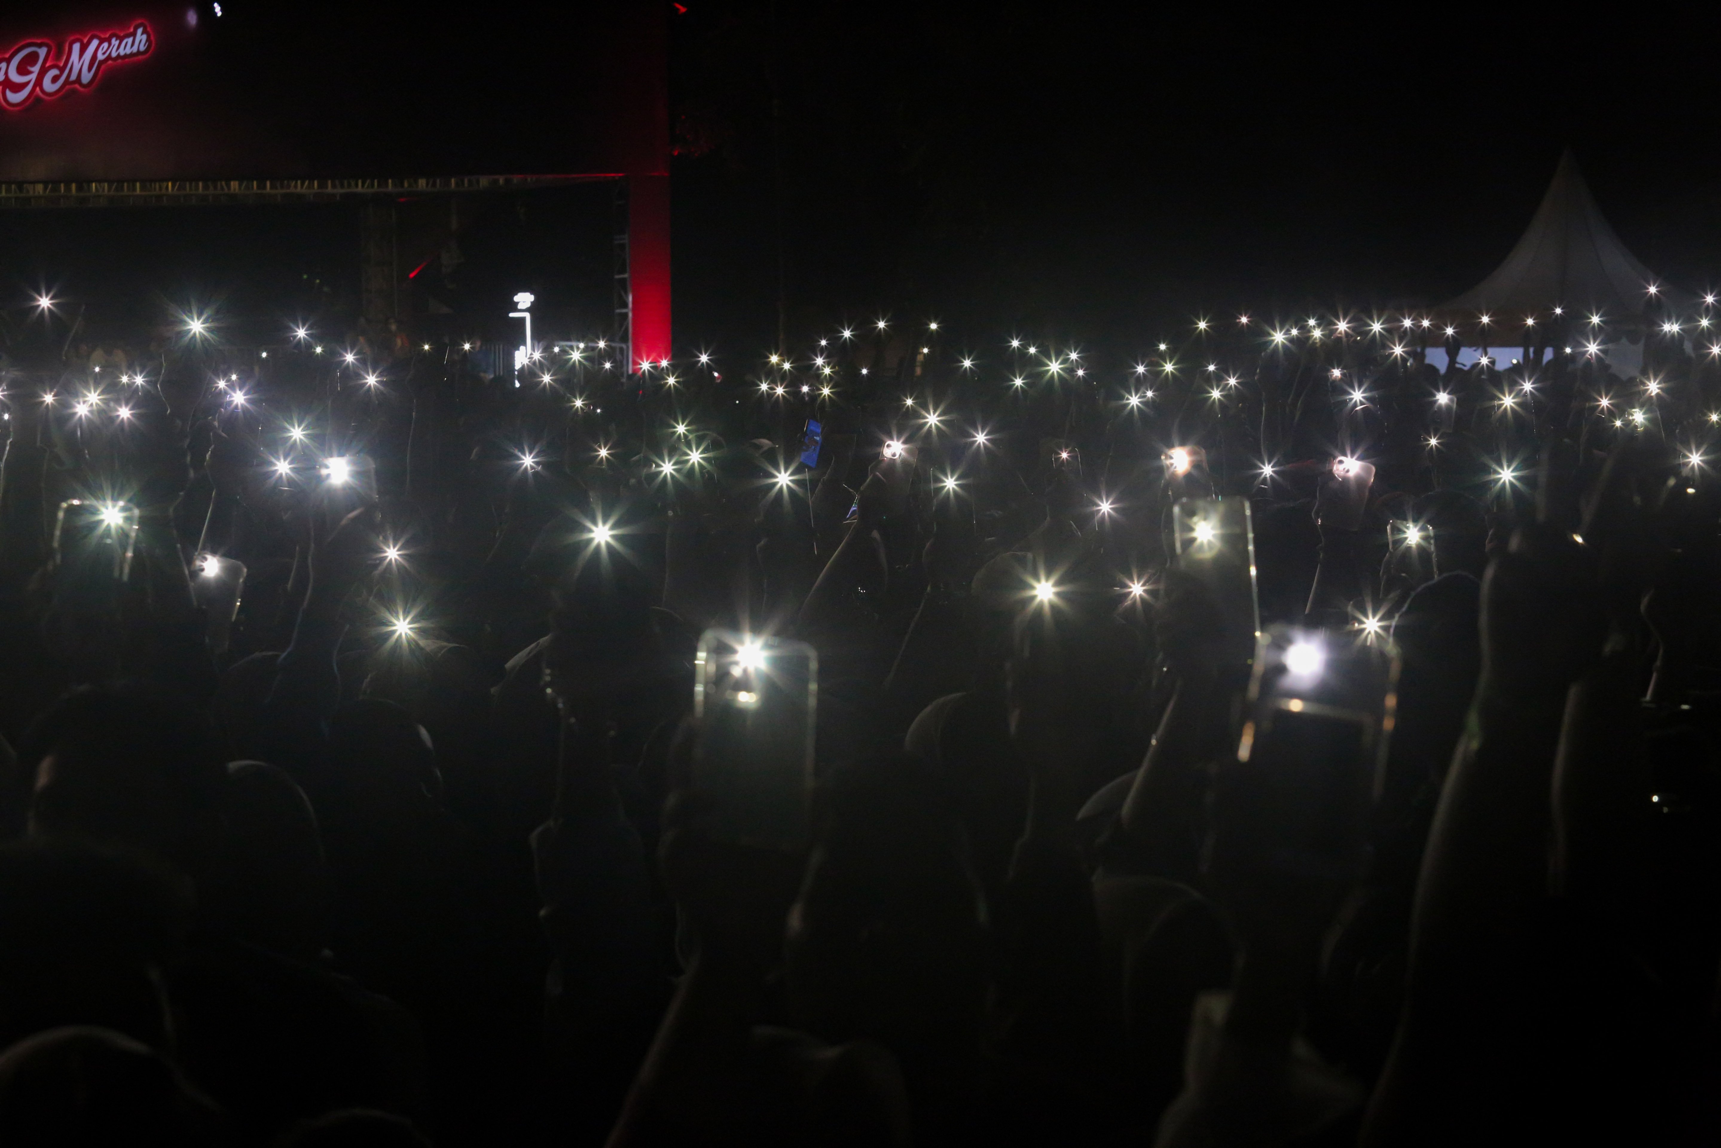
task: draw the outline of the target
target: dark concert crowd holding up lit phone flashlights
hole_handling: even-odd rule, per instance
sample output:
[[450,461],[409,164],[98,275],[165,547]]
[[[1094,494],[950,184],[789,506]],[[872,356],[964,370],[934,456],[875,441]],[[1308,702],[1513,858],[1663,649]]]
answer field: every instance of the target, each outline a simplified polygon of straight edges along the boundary
[[1709,317],[17,346],[0,1141],[1714,1143]]

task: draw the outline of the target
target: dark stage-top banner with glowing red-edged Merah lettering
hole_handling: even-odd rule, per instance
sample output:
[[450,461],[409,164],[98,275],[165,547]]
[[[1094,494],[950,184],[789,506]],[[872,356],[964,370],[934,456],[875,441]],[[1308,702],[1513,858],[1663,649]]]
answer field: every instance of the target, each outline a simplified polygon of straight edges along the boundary
[[0,181],[663,172],[666,12],[7,5]]

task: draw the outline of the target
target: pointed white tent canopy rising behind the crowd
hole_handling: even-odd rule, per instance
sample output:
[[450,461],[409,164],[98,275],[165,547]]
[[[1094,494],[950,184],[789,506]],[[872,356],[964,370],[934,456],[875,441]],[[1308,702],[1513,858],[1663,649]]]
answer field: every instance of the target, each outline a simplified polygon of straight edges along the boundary
[[[1506,262],[1442,312],[1545,315],[1554,306],[1614,318],[1642,315],[1654,286],[1662,303],[1687,303],[1644,267],[1602,219],[1568,148],[1530,227]],[[1669,298],[1671,296],[1671,298]]]

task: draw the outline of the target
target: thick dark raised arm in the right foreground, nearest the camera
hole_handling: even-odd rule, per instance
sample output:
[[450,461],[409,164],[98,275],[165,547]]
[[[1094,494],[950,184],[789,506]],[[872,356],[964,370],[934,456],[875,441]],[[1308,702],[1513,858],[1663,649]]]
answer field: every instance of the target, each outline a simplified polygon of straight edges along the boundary
[[1482,649],[1470,730],[1423,855],[1406,1005],[1370,1102],[1370,1148],[1528,1133],[1551,1071],[1535,1022],[1549,793],[1568,688],[1601,649],[1587,556],[1568,535],[1527,527],[1489,570]]

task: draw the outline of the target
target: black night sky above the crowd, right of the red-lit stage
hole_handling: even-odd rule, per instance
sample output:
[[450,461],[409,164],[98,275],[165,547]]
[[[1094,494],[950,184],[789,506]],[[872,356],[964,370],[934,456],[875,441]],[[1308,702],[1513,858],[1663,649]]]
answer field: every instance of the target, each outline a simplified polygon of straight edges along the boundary
[[[1721,267],[1709,36],[1688,26],[838,3],[781,5],[773,36],[768,12],[682,17],[680,107],[740,108],[738,170],[678,170],[700,282],[683,315],[769,241],[761,76],[783,96],[790,298],[811,313],[904,299],[1100,337],[1232,305],[1437,303],[1504,258],[1566,145],[1657,274]],[[743,282],[733,306],[756,308],[774,267]]]

